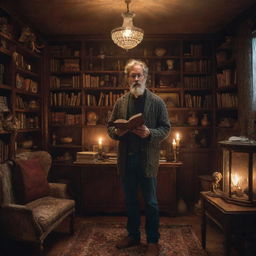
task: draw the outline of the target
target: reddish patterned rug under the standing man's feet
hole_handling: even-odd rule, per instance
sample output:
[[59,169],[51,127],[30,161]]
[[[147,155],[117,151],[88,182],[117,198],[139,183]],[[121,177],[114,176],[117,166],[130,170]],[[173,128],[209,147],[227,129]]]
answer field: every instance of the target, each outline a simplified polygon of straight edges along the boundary
[[[206,256],[189,225],[161,225],[159,256]],[[83,223],[77,228],[59,256],[142,256],[146,240],[142,232],[141,244],[118,250],[116,242],[126,235],[124,224]]]

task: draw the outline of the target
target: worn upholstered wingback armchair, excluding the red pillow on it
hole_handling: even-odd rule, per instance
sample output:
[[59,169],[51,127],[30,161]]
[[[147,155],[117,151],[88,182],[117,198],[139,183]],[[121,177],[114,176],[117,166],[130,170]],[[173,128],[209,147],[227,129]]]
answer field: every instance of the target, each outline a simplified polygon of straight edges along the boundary
[[[52,160],[46,151],[24,152],[15,160],[32,159],[39,162],[41,172],[44,170],[47,177]],[[66,184],[48,183],[45,177],[46,193],[43,196],[37,193],[37,198],[20,203],[14,169],[12,162],[0,165],[0,231],[17,240],[36,242],[42,252],[44,239],[67,217],[70,217],[70,233],[73,233],[75,202],[68,198]],[[38,179],[40,175],[31,172]],[[28,170],[26,175],[31,172]]]

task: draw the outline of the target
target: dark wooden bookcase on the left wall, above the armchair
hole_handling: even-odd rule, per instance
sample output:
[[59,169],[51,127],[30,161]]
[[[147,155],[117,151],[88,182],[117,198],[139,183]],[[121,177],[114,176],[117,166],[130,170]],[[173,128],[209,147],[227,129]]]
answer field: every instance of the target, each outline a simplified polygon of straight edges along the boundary
[[[0,9],[0,161],[42,148],[42,56],[18,41],[20,21]],[[12,116],[12,127],[7,117]]]

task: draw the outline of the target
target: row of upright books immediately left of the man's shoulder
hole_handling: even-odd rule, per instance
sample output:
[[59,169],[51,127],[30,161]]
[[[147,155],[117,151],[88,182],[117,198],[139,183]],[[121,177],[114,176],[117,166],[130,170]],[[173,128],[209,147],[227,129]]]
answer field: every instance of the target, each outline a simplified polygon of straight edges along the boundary
[[[125,92],[124,92],[125,93]],[[99,97],[93,94],[87,94],[85,97],[85,105],[86,106],[105,106],[111,107],[114,105],[116,100],[121,97],[124,93],[104,93],[100,92]]]

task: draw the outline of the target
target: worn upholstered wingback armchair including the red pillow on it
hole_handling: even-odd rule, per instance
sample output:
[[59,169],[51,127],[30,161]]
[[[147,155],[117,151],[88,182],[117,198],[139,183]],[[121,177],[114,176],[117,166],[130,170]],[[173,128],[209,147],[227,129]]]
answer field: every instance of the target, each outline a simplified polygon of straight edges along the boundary
[[0,232],[36,242],[41,252],[46,236],[65,218],[70,217],[70,233],[74,230],[75,202],[66,184],[48,183],[51,162],[46,151],[36,151],[0,165]]

